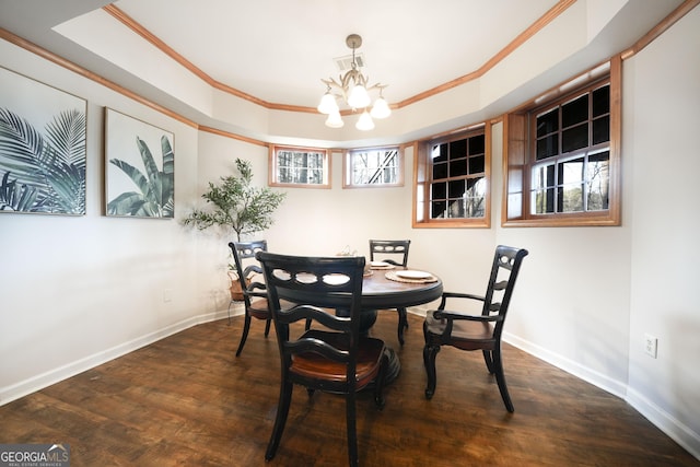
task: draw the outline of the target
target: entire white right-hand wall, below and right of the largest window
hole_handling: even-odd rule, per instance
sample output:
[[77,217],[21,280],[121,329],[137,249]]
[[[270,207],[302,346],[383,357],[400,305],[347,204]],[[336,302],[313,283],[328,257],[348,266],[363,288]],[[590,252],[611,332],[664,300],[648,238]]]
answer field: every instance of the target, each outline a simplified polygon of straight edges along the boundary
[[623,62],[622,225],[495,233],[530,250],[508,340],[625,398],[700,458],[698,27],[695,9]]

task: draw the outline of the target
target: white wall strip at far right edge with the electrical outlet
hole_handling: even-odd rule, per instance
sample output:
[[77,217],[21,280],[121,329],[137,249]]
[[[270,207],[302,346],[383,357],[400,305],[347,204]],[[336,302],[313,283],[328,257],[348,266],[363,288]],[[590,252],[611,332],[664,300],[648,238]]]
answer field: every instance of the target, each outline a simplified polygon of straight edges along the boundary
[[[623,151],[630,159],[628,400],[700,443],[700,9],[626,63]],[[658,358],[642,351],[658,338]],[[678,431],[677,428],[682,428]]]

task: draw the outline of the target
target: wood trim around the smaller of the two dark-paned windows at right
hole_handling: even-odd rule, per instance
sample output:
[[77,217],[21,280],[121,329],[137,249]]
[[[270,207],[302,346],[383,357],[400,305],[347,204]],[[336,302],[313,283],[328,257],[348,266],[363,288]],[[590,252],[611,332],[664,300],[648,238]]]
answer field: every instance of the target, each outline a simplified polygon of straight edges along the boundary
[[[490,121],[477,124],[467,128],[448,131],[442,135],[413,142],[413,202],[411,226],[413,229],[490,229],[491,227],[491,126]],[[477,129],[483,129],[485,136],[485,168],[483,177],[487,183],[483,218],[464,219],[430,219],[428,203],[430,202],[430,187],[428,174],[428,144],[450,135],[464,135]]]

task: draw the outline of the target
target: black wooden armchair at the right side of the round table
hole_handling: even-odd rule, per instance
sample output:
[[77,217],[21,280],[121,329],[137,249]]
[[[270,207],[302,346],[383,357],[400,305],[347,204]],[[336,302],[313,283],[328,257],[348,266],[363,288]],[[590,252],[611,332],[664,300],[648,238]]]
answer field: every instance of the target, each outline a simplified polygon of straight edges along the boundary
[[[515,410],[503,374],[501,336],[515,280],[523,258],[527,254],[526,249],[498,246],[483,296],[460,292],[443,292],[438,310],[428,312],[423,322],[423,336],[425,337],[423,363],[428,373],[427,399],[431,399],[435,394],[435,357],[442,346],[452,346],[460,350],[482,351],[489,373],[495,374],[505,408],[509,412]],[[464,312],[445,310],[447,301],[452,302],[453,299],[481,302],[481,314],[475,316]]]

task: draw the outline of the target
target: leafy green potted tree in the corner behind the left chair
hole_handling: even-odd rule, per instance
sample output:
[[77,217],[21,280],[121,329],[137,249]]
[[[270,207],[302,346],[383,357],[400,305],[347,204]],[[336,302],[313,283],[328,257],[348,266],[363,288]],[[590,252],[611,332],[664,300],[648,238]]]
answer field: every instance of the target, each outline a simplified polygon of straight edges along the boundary
[[[211,226],[230,227],[238,242],[244,235],[261,232],[272,225],[272,213],[287,194],[269,187],[253,186],[250,162],[236,159],[235,163],[238,174],[221,177],[219,185],[209,182],[209,190],[201,196],[208,208],[194,210],[183,221],[185,225],[192,224],[199,230]],[[231,299],[243,300],[238,271],[232,261],[229,262],[229,275]]]

